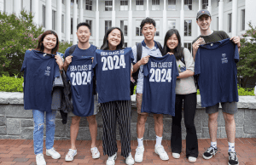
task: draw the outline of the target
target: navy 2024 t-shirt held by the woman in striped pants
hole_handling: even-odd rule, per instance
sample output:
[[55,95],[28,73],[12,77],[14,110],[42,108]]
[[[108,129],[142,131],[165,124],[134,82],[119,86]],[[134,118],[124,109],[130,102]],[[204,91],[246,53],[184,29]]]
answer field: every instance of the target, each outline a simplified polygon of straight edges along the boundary
[[99,103],[114,100],[131,100],[131,48],[96,50],[93,67],[96,67],[96,90]]

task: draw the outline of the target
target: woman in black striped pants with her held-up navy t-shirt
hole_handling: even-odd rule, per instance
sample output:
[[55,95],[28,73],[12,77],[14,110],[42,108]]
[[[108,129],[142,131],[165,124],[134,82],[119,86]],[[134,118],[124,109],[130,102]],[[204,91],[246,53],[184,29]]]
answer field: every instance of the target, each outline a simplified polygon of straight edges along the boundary
[[131,156],[131,48],[123,48],[124,35],[118,27],[108,29],[102,48],[96,50],[93,67],[96,68],[98,101],[102,107],[104,155],[107,165],[115,164],[117,157],[116,122],[119,123],[121,156],[126,164],[134,164]]

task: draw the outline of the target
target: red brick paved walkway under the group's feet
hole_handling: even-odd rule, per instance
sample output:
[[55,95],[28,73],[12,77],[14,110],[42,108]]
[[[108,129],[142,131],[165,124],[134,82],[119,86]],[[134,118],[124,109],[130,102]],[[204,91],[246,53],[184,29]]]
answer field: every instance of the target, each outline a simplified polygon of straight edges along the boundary
[[[199,152],[200,155],[197,158],[197,162],[191,163],[185,157],[185,140],[183,140],[183,152],[181,153],[181,158],[172,158],[172,152],[170,149],[170,140],[163,140],[162,145],[165,146],[166,151],[170,157],[169,161],[161,161],[159,156],[154,153],[154,140],[144,140],[145,152],[144,159],[142,163],[136,163],[139,165],[149,165],[149,164],[203,164],[203,165],[226,165],[228,164],[228,142],[227,139],[218,139],[218,154],[212,157],[210,160],[204,160],[202,158],[202,153],[207,150],[210,144],[210,139],[199,139]],[[70,147],[69,140],[55,140],[55,149],[61,154],[61,159],[55,160],[50,156],[45,155],[44,148],[44,158],[47,165],[101,165],[106,164],[108,156],[103,156],[102,152],[102,141],[98,140],[96,142],[97,147],[101,152],[101,157],[99,159],[93,160],[90,156],[90,140],[78,140],[77,148],[78,155],[75,156],[73,162],[65,162],[64,158]],[[120,156],[120,141],[118,141],[118,158],[116,160],[116,165],[125,164],[125,159]],[[134,157],[135,150],[137,148],[137,140],[131,141],[131,154]],[[239,159],[240,165],[256,165],[256,138],[238,138],[236,139],[236,152]],[[26,165],[36,165],[36,156],[33,152],[33,141],[31,139],[0,139],[0,164],[26,164]]]

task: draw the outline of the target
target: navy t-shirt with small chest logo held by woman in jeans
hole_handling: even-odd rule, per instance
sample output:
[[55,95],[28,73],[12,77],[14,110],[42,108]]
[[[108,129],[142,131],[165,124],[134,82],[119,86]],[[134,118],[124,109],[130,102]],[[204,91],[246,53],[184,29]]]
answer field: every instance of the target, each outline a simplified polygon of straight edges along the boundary
[[51,112],[53,81],[60,76],[54,55],[26,50],[21,71],[24,71],[24,109]]

